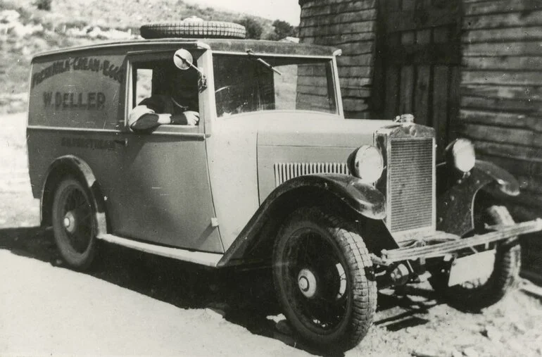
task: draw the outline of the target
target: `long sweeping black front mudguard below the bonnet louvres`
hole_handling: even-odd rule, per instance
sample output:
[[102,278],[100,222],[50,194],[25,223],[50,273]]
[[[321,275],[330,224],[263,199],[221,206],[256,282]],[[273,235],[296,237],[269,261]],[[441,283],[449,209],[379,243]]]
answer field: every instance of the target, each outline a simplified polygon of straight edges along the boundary
[[[256,213],[248,221],[241,233],[234,240],[229,249],[218,263],[218,266],[229,265],[234,259],[241,259],[248,246],[258,240],[258,232],[272,216],[275,209],[282,210],[288,206],[289,211],[296,209],[303,201],[303,194],[307,191],[313,196],[322,196],[339,199],[344,205],[359,215],[374,220],[386,217],[386,199],[384,195],[371,184],[362,182],[358,177],[351,175],[305,175],[288,180],[273,190],[263,201]],[[318,203],[318,202],[317,202]],[[326,204],[326,201],[320,204]]]

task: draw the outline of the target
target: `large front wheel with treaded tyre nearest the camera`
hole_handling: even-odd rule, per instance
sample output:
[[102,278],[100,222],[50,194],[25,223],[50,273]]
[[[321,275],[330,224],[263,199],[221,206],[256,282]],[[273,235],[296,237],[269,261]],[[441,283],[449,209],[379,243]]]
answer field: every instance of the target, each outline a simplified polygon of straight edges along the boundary
[[273,249],[273,280],[284,315],[310,344],[351,349],[372,325],[372,261],[346,220],[319,208],[292,213]]

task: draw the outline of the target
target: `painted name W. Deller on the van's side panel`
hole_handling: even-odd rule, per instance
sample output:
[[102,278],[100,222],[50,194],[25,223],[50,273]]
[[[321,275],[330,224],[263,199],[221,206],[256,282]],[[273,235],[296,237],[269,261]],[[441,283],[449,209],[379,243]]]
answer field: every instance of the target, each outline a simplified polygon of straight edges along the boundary
[[102,92],[55,92],[54,94],[44,92],[43,101],[45,108],[102,110],[106,106],[106,94]]

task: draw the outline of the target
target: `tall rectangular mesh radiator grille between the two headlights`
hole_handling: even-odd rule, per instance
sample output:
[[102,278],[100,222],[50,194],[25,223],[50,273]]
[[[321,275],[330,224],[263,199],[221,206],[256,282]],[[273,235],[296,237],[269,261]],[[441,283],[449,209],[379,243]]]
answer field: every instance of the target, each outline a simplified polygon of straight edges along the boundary
[[391,139],[387,184],[391,232],[431,227],[433,165],[433,139]]

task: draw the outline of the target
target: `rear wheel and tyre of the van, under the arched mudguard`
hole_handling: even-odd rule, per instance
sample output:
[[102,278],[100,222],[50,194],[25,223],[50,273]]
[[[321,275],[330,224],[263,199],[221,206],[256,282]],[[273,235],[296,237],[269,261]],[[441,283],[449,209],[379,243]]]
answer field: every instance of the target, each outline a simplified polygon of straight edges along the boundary
[[96,220],[88,190],[67,177],[53,198],[53,233],[63,260],[76,270],[92,265],[96,255]]

